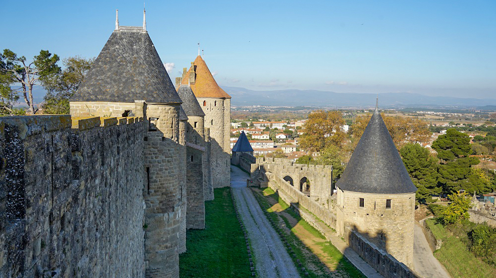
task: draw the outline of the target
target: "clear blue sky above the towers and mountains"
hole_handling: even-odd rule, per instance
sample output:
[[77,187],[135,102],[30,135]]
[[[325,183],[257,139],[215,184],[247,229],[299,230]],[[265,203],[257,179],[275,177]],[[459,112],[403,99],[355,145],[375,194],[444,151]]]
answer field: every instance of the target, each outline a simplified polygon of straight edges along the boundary
[[[140,1],[2,1],[0,48],[97,56]],[[164,63],[198,53],[221,86],[496,98],[496,1],[146,1]],[[172,64],[171,64],[172,65]]]

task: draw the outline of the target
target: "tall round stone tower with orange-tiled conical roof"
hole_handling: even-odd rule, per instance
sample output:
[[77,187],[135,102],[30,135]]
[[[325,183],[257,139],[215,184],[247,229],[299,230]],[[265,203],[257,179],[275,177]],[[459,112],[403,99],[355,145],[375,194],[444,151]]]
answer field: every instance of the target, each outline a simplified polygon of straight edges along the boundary
[[189,85],[205,113],[205,128],[210,130],[210,164],[214,188],[230,185],[231,96],[215,82],[200,55],[181,81]]

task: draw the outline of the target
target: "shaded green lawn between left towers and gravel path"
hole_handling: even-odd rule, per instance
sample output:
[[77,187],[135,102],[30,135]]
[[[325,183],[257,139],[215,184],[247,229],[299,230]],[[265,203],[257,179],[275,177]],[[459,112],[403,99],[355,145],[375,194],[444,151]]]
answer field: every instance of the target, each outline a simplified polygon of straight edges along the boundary
[[179,256],[180,277],[251,277],[230,188],[216,188],[214,194],[215,200],[205,202],[205,229],[186,232],[187,251]]

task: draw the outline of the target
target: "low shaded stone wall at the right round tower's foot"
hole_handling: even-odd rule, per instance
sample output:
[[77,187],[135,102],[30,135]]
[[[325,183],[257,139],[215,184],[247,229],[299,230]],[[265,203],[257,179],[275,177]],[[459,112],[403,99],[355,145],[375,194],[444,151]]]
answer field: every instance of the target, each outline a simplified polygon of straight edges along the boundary
[[384,278],[423,278],[393,256],[377,248],[356,231],[347,231],[345,239],[357,254]]

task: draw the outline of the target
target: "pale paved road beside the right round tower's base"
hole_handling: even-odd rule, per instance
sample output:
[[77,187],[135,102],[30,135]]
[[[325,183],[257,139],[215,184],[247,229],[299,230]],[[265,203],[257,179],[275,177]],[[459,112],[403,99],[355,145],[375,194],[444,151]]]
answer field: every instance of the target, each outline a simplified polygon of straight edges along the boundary
[[450,278],[449,274],[434,257],[422,226],[415,221],[413,242],[413,267],[420,275],[429,278]]

